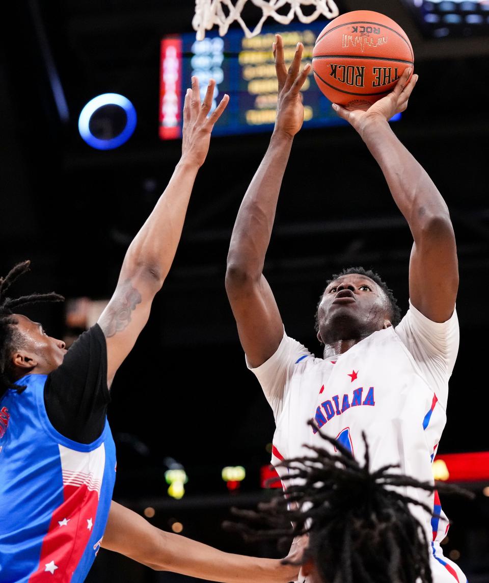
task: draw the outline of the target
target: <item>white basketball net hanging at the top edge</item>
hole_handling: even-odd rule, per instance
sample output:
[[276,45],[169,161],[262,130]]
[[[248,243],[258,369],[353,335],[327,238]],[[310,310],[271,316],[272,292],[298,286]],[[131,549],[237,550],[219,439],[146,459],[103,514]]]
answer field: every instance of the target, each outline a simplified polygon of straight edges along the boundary
[[[253,2],[255,6],[261,8],[263,16],[260,22],[250,30],[241,17],[243,6],[246,2]],[[277,10],[290,5],[286,15],[279,14]],[[301,6],[316,6],[312,14],[306,16],[302,12]],[[226,12],[228,15],[226,16]],[[325,16],[328,19],[336,18],[339,10],[334,0],[196,0],[195,16],[192,20],[193,29],[197,31],[197,40],[205,38],[205,31],[212,27],[219,27],[219,35],[224,36],[229,29],[229,24],[238,21],[245,31],[247,38],[260,34],[261,27],[270,16],[280,24],[289,24],[297,16],[300,22],[309,23],[316,20],[318,16]]]

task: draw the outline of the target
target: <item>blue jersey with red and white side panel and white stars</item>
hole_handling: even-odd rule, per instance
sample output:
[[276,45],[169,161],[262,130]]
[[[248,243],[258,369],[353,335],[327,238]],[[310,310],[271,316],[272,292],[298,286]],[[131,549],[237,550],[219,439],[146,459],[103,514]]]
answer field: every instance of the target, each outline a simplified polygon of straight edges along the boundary
[[115,482],[108,422],[90,444],[63,437],[44,406],[47,375],[0,400],[0,582],[84,581]]

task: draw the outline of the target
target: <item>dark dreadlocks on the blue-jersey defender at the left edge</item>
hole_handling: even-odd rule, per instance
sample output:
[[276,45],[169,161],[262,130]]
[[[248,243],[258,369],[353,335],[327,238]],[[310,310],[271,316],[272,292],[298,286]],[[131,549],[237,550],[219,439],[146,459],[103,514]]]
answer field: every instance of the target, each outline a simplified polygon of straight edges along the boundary
[[17,389],[22,392],[25,387],[15,385],[12,375],[12,365],[10,364],[11,354],[23,347],[25,342],[22,334],[17,329],[17,320],[13,316],[18,308],[24,305],[37,304],[41,301],[63,301],[65,298],[52,293],[34,293],[30,296],[17,298],[6,297],[5,293],[9,287],[21,275],[29,271],[30,261],[23,261],[10,269],[5,278],[0,278],[0,398],[7,389]]

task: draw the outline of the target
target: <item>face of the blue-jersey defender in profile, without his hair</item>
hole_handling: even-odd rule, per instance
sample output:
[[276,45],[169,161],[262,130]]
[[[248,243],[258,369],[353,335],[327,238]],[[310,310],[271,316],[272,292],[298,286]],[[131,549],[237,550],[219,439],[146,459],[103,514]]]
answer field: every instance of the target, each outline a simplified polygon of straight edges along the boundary
[[11,355],[16,380],[30,373],[49,374],[58,368],[68,352],[63,340],[48,336],[41,324],[22,314],[13,317],[20,340]]

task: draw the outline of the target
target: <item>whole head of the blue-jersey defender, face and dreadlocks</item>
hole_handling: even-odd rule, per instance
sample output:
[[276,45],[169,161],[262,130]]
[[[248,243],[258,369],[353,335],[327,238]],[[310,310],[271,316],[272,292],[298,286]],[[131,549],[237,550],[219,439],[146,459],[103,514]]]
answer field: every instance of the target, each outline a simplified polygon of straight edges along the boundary
[[38,322],[16,311],[25,305],[44,301],[63,301],[55,293],[31,294],[19,298],[6,297],[6,292],[19,276],[29,271],[24,261],[0,278],[0,397],[8,388],[22,389],[14,383],[30,373],[49,374],[58,368],[66,354],[65,343],[51,338]]

